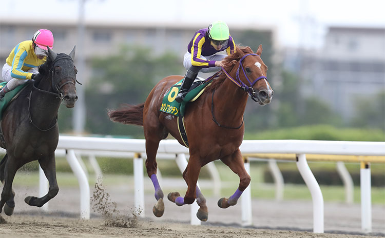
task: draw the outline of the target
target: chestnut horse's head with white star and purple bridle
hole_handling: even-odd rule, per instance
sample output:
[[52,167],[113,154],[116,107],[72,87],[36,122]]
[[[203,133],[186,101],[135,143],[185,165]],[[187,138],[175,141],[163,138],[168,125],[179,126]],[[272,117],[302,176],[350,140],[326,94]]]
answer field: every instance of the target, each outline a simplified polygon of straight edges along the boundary
[[[236,49],[236,58],[239,58],[239,60],[232,60],[227,64],[235,65],[233,70],[237,70],[237,83],[255,102],[260,105],[270,103],[274,91],[267,81],[267,66],[261,58],[262,45],[259,45],[256,53],[249,47],[241,48],[237,46]],[[231,58],[228,60],[231,60]]]

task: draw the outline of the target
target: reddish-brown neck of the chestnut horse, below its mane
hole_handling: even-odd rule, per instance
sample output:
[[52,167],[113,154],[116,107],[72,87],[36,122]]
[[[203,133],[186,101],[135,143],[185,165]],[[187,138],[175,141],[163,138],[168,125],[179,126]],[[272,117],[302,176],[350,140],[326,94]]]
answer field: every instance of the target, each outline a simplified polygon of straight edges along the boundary
[[[235,78],[235,75],[233,78]],[[242,120],[246,103],[247,94],[228,78],[215,90],[215,115],[218,118],[232,118],[234,121]]]

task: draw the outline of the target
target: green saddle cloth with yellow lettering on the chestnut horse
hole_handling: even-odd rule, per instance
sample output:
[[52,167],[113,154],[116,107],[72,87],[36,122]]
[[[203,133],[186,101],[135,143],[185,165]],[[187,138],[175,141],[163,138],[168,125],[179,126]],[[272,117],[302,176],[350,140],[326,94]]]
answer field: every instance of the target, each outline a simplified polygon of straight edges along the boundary
[[211,80],[207,82],[195,81],[191,85],[186,96],[184,97],[184,100],[181,103],[178,103],[177,101],[175,101],[175,98],[177,97],[182,81],[183,80],[171,86],[170,90],[163,98],[160,111],[166,112],[175,116],[183,116],[185,112],[186,104],[188,102],[195,101],[203,93],[206,86],[211,83]]

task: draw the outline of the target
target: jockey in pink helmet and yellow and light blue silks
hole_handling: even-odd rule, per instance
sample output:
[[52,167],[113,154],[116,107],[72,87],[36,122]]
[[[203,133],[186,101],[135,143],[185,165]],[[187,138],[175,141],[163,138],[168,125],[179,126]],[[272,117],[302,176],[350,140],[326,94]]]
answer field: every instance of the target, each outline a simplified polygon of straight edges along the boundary
[[47,60],[47,47],[53,47],[52,32],[40,29],[33,34],[32,40],[21,42],[12,49],[3,66],[3,81],[7,85],[0,91],[0,100],[28,80],[41,79],[38,67]]

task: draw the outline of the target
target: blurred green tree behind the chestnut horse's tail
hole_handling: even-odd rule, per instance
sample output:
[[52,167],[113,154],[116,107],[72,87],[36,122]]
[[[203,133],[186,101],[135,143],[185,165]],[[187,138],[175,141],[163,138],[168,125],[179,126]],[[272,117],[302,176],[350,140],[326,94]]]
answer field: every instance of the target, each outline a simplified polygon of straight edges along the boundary
[[[183,74],[180,59],[171,53],[153,56],[150,49],[138,46],[122,46],[116,55],[94,58],[92,80],[86,88],[86,130],[92,134],[125,135],[143,137],[141,127],[113,123],[107,116],[108,109],[121,104],[144,103],[148,93],[163,77]],[[70,111],[61,110],[66,120],[61,131],[68,127]],[[70,125],[70,124],[69,124]]]

